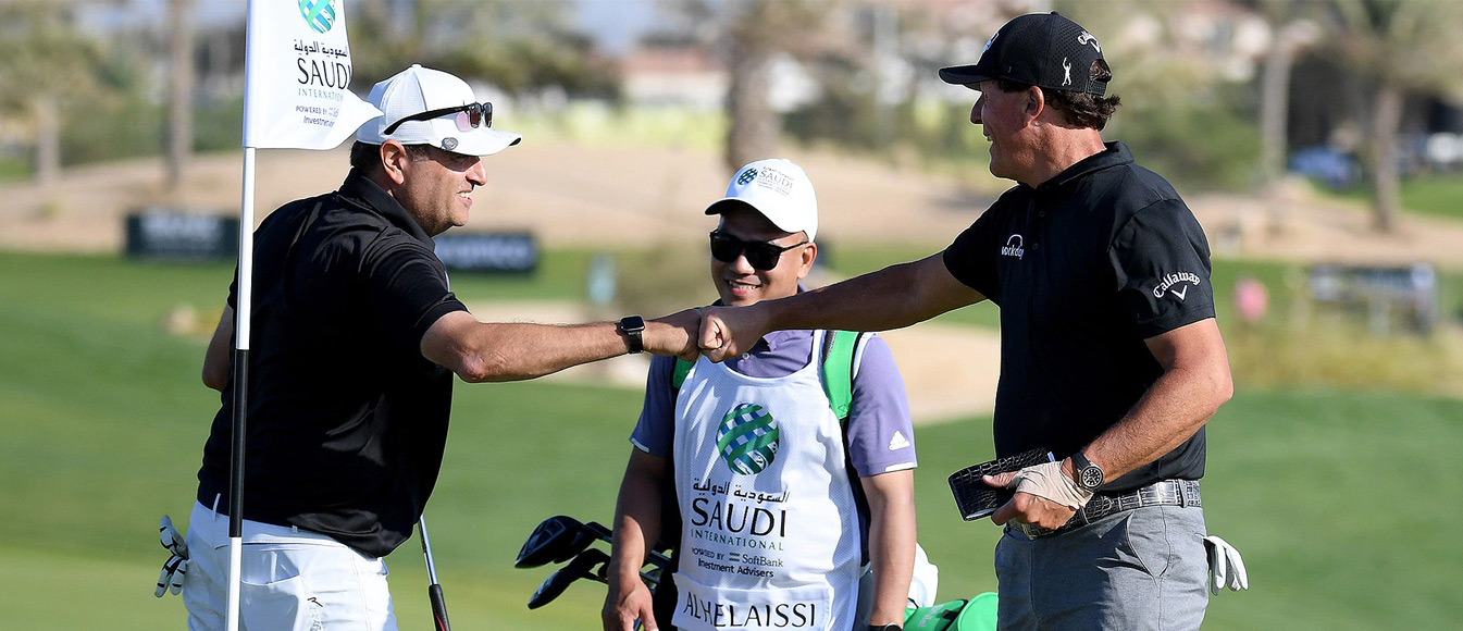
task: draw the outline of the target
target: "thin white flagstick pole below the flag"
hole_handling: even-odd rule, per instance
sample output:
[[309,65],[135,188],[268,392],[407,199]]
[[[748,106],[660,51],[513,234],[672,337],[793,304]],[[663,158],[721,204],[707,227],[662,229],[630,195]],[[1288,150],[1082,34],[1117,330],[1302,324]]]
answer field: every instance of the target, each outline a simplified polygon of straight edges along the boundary
[[244,148],[244,198],[238,209],[238,309],[234,312],[234,438],[228,471],[228,631],[238,631],[238,581],[244,558],[244,439],[249,426],[249,321],[255,285],[255,148]]

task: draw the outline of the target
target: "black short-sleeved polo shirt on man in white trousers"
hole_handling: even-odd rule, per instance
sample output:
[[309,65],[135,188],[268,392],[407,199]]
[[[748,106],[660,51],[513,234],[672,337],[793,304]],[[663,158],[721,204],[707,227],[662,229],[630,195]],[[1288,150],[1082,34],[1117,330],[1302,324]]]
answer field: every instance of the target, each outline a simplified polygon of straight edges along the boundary
[[[446,442],[452,373],[421,337],[465,307],[432,237],[356,171],[259,225],[253,278],[244,517],[385,556],[411,536]],[[228,512],[233,369],[221,403],[198,499],[221,493]]]

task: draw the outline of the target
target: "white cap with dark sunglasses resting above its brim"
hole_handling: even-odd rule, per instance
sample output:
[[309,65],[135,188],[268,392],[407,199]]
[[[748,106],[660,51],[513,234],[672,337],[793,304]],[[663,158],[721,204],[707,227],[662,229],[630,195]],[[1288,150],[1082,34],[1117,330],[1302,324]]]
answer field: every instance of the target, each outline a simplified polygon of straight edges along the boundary
[[429,120],[407,120],[388,135],[386,127],[402,119],[477,102],[473,88],[465,81],[420,64],[413,64],[372,86],[366,101],[385,113],[367,120],[356,132],[356,139],[367,145],[396,141],[402,145],[432,145],[465,155],[492,155],[524,139],[518,133],[500,132],[487,124],[478,127],[459,124],[459,119],[467,120],[465,113],[461,117],[458,113],[445,113]]

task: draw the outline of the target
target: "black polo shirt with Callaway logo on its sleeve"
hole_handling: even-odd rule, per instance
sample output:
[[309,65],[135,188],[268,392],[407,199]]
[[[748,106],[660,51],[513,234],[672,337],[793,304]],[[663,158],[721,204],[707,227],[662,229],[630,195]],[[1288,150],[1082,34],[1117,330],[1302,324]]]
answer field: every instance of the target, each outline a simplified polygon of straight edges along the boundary
[[[1001,306],[998,455],[1086,447],[1162,375],[1144,340],[1214,316],[1204,231],[1121,142],[1037,187],[1007,190],[944,259]],[[1106,489],[1203,474],[1200,429]]]

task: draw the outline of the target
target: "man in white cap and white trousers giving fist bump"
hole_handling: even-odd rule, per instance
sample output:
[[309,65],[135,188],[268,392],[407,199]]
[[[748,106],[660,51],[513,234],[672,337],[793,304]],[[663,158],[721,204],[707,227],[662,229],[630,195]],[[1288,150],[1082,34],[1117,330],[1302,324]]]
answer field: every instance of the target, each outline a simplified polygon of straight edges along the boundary
[[[339,190],[255,231],[241,622],[246,630],[395,630],[382,556],[411,536],[446,442],[452,373],[514,381],[642,350],[693,351],[695,310],[576,326],[478,322],[432,237],[462,225],[481,157],[519,142],[445,72],[377,83]],[[203,363],[222,392],[198,473],[181,581],[189,628],[221,630],[236,291]],[[167,533],[165,533],[167,534]],[[190,558],[189,558],[190,556]],[[161,593],[162,590],[159,590]]]

